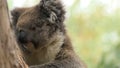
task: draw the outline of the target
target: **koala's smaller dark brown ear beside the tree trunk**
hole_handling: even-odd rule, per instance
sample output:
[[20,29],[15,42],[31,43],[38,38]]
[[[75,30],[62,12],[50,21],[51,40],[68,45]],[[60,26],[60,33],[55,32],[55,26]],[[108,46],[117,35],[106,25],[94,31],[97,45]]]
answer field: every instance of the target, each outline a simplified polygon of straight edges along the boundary
[[25,8],[15,8],[11,11],[12,26],[16,26],[19,16],[25,11]]

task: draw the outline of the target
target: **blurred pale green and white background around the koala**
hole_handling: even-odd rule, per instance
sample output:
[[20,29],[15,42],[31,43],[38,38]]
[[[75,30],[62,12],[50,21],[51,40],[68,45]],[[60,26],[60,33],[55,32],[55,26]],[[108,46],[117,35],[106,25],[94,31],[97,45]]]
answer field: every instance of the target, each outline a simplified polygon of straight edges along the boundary
[[[88,68],[120,68],[120,0],[62,0],[66,29]],[[9,9],[39,0],[8,0]]]

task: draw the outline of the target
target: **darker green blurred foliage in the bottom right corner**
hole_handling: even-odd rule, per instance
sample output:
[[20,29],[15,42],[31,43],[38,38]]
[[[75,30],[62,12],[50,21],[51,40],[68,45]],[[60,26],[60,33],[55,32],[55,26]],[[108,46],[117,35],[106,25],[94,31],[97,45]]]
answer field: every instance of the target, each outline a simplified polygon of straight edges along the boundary
[[104,53],[97,68],[120,68],[120,44]]

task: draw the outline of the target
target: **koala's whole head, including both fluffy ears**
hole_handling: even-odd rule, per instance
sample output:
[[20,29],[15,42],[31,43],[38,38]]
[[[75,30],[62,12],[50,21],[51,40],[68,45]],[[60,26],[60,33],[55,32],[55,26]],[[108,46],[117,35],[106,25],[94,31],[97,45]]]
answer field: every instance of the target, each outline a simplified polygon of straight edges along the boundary
[[41,0],[34,7],[16,8],[11,14],[13,28],[20,44],[31,43],[37,49],[65,34],[65,11],[59,0]]

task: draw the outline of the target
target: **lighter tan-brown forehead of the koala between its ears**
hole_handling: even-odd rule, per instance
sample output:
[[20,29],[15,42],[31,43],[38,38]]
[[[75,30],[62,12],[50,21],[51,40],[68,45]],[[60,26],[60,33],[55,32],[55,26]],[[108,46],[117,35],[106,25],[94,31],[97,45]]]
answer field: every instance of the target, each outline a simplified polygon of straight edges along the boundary
[[30,8],[23,12],[21,16],[18,18],[17,25],[24,25],[24,24],[30,24],[31,22],[37,22],[38,21],[38,11],[35,10],[35,8]]

